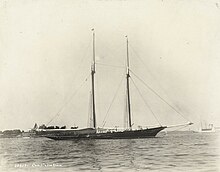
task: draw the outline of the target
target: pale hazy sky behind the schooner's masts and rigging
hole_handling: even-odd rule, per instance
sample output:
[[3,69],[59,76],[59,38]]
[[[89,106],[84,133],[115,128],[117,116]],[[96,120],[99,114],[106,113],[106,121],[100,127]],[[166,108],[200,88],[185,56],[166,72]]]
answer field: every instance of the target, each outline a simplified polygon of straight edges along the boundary
[[92,28],[98,126],[123,127],[126,35],[130,69],[184,116],[131,76],[135,127],[157,125],[151,110],[220,126],[219,0],[1,0],[0,130],[88,125]]

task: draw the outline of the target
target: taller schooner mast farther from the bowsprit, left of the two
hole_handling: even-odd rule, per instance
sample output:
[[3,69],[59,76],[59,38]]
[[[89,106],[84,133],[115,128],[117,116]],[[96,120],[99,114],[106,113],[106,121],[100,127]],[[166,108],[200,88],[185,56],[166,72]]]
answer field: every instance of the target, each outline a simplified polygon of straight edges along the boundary
[[95,113],[95,31],[92,29],[93,34],[93,58],[91,66],[91,76],[92,76],[92,115],[93,115],[93,127],[96,128],[96,113]]

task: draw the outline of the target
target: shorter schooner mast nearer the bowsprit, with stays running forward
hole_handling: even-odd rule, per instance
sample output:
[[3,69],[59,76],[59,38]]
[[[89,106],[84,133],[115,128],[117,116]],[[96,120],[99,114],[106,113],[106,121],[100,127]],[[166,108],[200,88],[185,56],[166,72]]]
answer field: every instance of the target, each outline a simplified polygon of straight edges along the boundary
[[129,51],[128,51],[128,36],[126,36],[126,43],[127,43],[127,72],[126,72],[126,80],[127,80],[127,105],[128,105],[128,124],[129,129],[132,129],[131,123],[131,102],[130,102],[130,86],[129,86],[129,78],[130,78],[130,71],[129,71]]

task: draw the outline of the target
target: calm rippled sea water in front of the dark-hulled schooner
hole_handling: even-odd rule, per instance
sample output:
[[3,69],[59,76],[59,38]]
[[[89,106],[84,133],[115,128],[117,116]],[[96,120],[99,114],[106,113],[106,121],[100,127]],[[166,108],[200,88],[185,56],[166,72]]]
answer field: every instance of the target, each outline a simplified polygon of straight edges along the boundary
[[0,139],[0,171],[220,171],[220,133],[133,140]]

